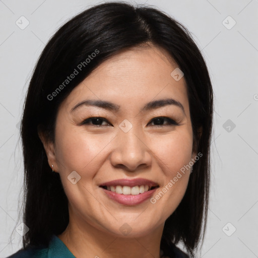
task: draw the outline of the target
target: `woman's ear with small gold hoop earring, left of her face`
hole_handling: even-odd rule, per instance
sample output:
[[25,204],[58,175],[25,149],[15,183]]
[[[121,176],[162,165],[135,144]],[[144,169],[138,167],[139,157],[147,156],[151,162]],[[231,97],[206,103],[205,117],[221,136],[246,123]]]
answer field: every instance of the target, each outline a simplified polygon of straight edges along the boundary
[[[59,169],[56,162],[57,160],[55,156],[55,149],[54,149],[53,142],[49,139],[45,131],[41,130],[40,127],[38,127],[38,136],[44,146],[49,167],[53,169],[55,172],[58,172]],[[53,165],[53,168],[52,168],[52,165]]]

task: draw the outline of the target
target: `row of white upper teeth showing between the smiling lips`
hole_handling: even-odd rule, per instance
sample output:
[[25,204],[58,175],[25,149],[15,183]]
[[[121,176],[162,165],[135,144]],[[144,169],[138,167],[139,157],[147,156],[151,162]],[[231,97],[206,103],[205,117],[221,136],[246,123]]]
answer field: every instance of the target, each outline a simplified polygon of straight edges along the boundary
[[155,188],[158,188],[159,186],[151,186],[151,185],[136,185],[133,187],[127,186],[127,185],[101,185],[100,187],[119,193],[120,195],[140,195],[141,193],[153,190]]

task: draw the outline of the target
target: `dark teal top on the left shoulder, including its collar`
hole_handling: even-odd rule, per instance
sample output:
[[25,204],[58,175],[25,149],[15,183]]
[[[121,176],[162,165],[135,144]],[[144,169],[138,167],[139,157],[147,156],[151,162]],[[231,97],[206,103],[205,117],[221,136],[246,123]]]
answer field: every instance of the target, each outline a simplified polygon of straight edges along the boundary
[[48,248],[21,249],[7,258],[76,258],[63,241],[53,235]]

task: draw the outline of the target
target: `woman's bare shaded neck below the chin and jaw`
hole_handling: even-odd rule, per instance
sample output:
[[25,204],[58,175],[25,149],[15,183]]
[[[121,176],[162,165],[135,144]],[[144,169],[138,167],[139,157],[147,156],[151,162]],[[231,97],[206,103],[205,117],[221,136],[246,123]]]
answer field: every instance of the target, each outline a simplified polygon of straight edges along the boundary
[[160,258],[163,226],[145,236],[121,237],[70,217],[68,227],[58,237],[77,258]]

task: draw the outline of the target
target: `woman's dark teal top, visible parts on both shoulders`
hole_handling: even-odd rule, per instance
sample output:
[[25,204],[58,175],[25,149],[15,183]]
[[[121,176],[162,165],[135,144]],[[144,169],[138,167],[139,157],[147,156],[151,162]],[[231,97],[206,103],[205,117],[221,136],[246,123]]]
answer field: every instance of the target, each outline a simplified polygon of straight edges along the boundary
[[[189,256],[182,252],[175,245],[170,247],[166,257],[173,258],[189,258]],[[163,254],[163,251],[161,251]],[[45,248],[28,248],[26,250],[20,249],[16,253],[7,258],[76,258],[74,254],[68,249],[63,241],[56,235],[52,235],[49,246]]]

